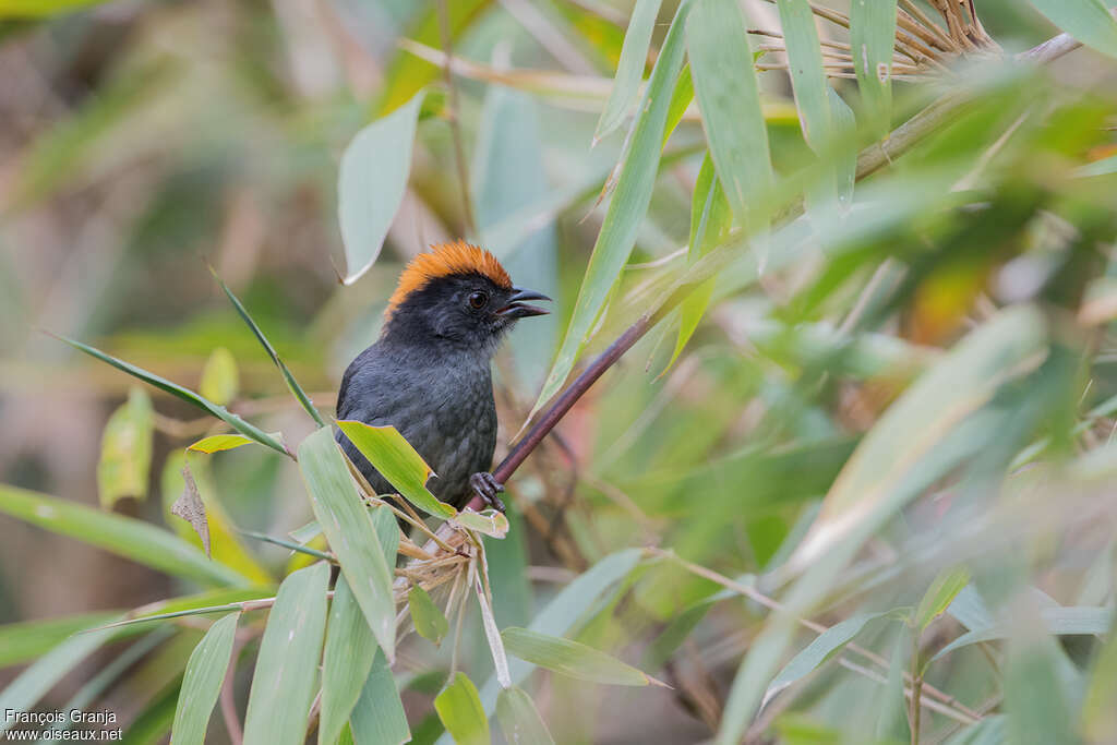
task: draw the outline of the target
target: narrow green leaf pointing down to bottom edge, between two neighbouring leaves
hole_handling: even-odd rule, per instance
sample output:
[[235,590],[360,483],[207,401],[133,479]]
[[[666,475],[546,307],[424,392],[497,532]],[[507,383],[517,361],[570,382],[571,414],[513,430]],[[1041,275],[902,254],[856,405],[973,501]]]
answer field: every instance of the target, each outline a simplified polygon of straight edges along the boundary
[[330,605],[326,649],[322,656],[319,745],[333,745],[337,742],[361,697],[375,657],[376,639],[364,620],[349,582],[340,576]]

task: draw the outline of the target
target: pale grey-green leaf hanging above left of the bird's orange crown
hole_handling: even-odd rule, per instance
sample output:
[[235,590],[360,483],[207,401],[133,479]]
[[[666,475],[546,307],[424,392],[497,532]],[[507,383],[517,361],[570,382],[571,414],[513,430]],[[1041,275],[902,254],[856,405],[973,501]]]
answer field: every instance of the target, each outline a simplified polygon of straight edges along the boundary
[[345,245],[346,285],[376,260],[403,201],[423,98],[426,93],[420,90],[403,106],[365,126],[342,154],[337,218]]

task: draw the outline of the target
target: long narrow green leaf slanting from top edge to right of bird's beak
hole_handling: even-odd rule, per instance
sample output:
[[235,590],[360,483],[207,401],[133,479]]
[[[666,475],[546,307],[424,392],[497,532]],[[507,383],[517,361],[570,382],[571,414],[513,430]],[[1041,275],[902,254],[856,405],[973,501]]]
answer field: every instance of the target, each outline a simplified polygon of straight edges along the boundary
[[605,210],[605,218],[593,246],[582,288],[574,303],[574,314],[547,380],[540,391],[532,413],[535,413],[562,386],[582,350],[594,319],[620,276],[636,245],[640,221],[648,211],[659,169],[660,143],[667,125],[672,93],[682,68],[684,27],[690,10],[684,0],[675,13],[671,28],[660,49],[651,79],[640,104],[629,146],[622,157],[617,191]]

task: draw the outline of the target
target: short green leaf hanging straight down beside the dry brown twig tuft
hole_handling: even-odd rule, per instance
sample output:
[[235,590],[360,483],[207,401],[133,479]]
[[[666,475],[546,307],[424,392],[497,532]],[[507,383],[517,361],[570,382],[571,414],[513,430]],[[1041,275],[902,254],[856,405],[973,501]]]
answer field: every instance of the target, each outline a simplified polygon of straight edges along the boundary
[[896,0],[852,0],[849,6],[849,42],[853,71],[873,131],[888,133],[892,106],[892,45],[896,38]]

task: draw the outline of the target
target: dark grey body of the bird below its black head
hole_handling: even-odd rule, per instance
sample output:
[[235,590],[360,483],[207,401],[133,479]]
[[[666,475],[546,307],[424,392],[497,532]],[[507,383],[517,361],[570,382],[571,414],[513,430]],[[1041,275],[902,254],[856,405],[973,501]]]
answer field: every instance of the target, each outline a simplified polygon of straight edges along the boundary
[[[488,359],[378,342],[345,371],[337,419],[395,427],[433,469],[428,488],[460,507],[469,477],[491,467],[496,449]],[[335,437],[378,494],[394,491],[344,434]]]

